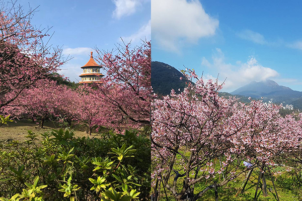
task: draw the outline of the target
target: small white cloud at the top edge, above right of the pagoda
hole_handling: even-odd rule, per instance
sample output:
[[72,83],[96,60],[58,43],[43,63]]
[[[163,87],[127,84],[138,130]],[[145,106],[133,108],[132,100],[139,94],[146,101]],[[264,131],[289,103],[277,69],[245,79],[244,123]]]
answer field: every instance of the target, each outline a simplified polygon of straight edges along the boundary
[[134,14],[137,8],[146,0],[112,0],[112,2],[115,4],[113,18],[121,19],[123,16]]

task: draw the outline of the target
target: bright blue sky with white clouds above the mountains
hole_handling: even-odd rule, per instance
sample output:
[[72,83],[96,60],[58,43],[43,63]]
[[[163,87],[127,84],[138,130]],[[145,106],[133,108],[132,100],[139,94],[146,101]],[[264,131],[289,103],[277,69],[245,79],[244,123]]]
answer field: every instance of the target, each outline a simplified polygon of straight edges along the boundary
[[152,58],[222,91],[272,79],[302,91],[302,2],[152,0]]

